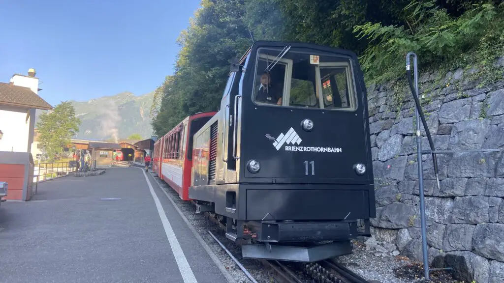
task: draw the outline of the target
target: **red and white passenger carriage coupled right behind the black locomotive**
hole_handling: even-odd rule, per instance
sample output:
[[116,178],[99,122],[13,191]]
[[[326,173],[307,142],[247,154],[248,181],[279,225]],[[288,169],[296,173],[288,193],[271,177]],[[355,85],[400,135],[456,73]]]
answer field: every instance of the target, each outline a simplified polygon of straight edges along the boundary
[[154,144],[153,170],[178,192],[182,200],[190,200],[193,136],[216,113],[188,116]]

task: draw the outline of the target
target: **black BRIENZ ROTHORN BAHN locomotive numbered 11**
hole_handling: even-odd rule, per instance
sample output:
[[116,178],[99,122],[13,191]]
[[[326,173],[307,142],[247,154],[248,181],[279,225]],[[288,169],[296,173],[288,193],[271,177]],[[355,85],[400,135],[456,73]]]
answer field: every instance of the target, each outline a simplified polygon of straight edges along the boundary
[[221,110],[195,134],[209,165],[193,177],[208,180],[193,182],[189,196],[223,219],[229,239],[246,241],[243,257],[349,253],[349,240],[369,235],[375,216],[367,121],[354,53],[255,42],[232,64]]

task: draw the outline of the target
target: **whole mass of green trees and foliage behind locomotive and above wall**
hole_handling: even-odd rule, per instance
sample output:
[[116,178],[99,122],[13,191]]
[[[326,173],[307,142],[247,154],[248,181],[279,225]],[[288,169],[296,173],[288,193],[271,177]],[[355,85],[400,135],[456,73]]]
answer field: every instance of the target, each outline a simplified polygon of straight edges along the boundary
[[[202,0],[178,39],[175,73],[156,90],[151,120],[158,135],[187,115],[217,110],[229,60],[256,40],[301,41],[350,49],[369,83],[393,81],[401,107],[405,55],[421,70],[474,66],[481,84],[502,78],[504,4],[499,0]],[[438,72],[441,73],[441,72]],[[439,81],[438,81],[439,83]],[[299,93],[291,98],[299,103]],[[160,99],[160,97],[162,97]],[[424,101],[425,103],[425,101]]]

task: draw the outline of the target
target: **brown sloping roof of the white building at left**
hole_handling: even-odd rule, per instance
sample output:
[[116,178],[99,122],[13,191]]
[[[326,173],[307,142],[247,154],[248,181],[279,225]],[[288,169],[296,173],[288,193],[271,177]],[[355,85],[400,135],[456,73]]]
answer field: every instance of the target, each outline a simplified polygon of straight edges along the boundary
[[36,108],[52,109],[52,106],[34,93],[31,89],[0,83],[0,104]]

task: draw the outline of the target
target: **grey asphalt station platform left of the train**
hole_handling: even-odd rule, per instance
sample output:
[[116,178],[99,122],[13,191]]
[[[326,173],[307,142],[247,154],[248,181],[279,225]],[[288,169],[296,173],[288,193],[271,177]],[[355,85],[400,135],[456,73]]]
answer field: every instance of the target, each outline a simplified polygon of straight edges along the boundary
[[40,183],[0,207],[0,282],[229,282],[148,173]]

